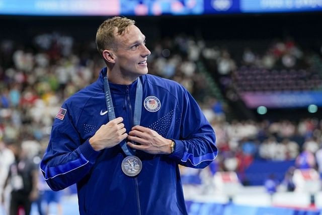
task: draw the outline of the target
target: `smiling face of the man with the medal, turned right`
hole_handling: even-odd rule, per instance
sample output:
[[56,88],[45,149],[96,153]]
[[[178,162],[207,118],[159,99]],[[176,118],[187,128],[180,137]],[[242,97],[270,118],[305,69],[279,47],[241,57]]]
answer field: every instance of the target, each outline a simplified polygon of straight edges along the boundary
[[135,25],[130,25],[122,35],[116,35],[116,68],[123,77],[137,78],[147,74],[147,56],[150,51],[145,46],[145,36]]

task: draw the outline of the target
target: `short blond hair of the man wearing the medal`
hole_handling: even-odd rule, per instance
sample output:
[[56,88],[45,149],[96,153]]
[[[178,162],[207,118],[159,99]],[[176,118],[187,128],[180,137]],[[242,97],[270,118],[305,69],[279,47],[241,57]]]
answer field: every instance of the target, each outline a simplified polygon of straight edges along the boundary
[[99,53],[102,55],[105,49],[116,50],[117,41],[114,35],[115,29],[117,29],[117,35],[122,35],[130,25],[134,24],[134,20],[126,17],[113,17],[105,20],[96,33],[96,45]]

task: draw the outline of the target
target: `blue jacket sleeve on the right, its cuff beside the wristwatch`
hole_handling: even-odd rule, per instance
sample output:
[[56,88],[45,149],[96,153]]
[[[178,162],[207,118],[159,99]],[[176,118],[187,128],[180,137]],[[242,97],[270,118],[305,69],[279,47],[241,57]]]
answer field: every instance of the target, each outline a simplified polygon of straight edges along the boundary
[[187,90],[181,98],[180,137],[173,139],[176,145],[170,157],[186,167],[205,168],[218,154],[214,130]]

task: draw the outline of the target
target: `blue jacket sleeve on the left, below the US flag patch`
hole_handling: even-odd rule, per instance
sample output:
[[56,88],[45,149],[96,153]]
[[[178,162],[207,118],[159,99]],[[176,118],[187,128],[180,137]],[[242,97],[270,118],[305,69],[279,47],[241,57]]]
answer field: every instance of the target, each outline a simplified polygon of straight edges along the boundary
[[[83,140],[72,121],[67,105],[63,119],[55,118],[49,144],[41,161],[41,171],[52,190],[64,189],[89,173],[99,152],[95,151],[89,139]],[[62,118],[62,115],[60,115]]]

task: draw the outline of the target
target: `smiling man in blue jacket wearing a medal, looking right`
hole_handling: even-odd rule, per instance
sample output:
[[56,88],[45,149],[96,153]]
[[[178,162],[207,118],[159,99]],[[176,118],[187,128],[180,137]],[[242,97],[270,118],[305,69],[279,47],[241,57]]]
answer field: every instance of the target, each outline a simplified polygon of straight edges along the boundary
[[80,214],[187,214],[178,164],[215,159],[212,127],[182,86],[146,75],[150,51],[133,20],[106,20],[96,43],[107,68],[60,108],[47,183],[77,183]]

